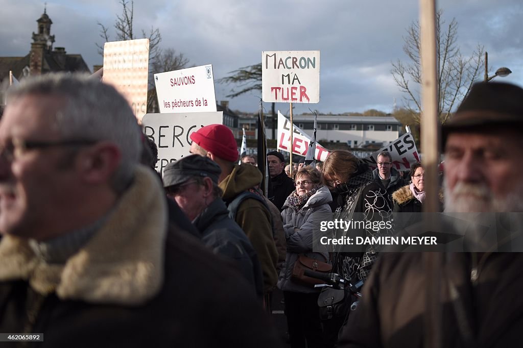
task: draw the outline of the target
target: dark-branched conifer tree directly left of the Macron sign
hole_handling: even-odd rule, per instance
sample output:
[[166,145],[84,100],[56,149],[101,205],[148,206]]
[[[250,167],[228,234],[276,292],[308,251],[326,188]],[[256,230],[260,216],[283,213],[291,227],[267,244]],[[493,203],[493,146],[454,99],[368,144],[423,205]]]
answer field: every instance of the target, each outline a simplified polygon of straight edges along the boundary
[[[232,88],[228,98],[235,98],[252,90],[261,91],[261,63],[244,66],[229,72],[229,76],[220,78],[218,83],[237,84],[237,89]],[[271,103],[272,138],[276,139],[276,103]]]

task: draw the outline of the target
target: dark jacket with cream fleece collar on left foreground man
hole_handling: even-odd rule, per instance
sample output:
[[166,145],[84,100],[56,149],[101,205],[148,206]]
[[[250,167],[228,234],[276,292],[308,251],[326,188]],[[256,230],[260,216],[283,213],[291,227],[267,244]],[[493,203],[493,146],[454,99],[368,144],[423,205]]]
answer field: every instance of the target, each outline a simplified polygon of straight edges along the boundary
[[[65,264],[0,242],[0,332],[33,347],[271,347],[274,328],[240,274],[174,225],[139,169],[104,225]],[[248,320],[245,320],[248,318]]]

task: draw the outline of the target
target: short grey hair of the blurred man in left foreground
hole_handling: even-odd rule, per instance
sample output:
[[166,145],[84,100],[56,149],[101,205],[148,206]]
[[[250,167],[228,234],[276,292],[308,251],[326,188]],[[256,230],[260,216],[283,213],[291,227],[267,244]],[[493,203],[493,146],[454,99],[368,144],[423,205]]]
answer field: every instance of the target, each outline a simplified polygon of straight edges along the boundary
[[114,87],[87,74],[45,74],[22,80],[9,91],[8,99],[28,95],[65,100],[55,115],[56,127],[64,138],[116,144],[122,158],[112,187],[120,193],[129,185],[139,162],[142,135],[128,101]]

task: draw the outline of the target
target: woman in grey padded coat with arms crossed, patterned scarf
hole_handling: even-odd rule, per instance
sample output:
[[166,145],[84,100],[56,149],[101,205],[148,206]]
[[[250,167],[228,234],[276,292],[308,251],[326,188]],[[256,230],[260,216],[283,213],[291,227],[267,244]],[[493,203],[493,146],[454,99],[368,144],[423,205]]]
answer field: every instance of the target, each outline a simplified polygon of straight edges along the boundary
[[[292,269],[300,254],[327,261],[327,250],[312,251],[313,233],[320,233],[320,223],[332,220],[329,203],[331,192],[322,187],[321,173],[312,167],[303,167],[295,178],[296,190],[283,204],[283,229],[287,239],[287,256],[280,272],[278,288],[285,298],[285,311],[292,348],[323,346],[322,327],[318,314],[319,289],[292,279]],[[318,236],[317,236],[318,237]]]

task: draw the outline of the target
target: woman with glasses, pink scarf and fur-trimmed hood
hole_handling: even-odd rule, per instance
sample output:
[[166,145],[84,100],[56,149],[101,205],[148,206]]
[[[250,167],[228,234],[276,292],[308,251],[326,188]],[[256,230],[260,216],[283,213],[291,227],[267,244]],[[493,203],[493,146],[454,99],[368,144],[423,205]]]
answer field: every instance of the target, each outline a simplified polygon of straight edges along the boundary
[[[425,169],[420,163],[411,167],[411,183],[392,194],[394,213],[421,213],[425,201]],[[440,202],[442,196],[440,194]]]

